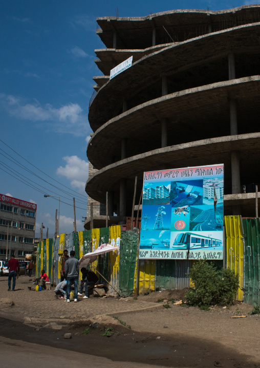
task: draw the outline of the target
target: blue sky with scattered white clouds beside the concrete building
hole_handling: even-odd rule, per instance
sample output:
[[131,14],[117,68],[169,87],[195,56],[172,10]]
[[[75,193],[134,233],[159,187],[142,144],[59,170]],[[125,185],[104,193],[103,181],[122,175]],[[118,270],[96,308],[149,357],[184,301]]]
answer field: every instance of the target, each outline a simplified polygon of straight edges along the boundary
[[[96,17],[115,16],[117,7],[119,16],[145,16],[180,8],[229,9],[233,4],[238,7],[251,2],[8,0],[0,3],[0,193],[37,203],[36,236],[41,222],[46,229],[49,227],[49,235],[54,235],[58,201],[44,198],[44,193],[60,196],[59,228],[66,233],[73,231],[75,196],[77,230],[83,230],[84,184],[88,177],[86,145],[92,132],[88,107],[94,91],[92,77],[102,74],[94,63],[94,49],[104,48],[96,35]],[[29,174],[4,155],[46,181]],[[33,180],[40,192],[10,176],[10,170],[24,175],[27,184],[31,185]],[[12,175],[18,175],[17,172]]]

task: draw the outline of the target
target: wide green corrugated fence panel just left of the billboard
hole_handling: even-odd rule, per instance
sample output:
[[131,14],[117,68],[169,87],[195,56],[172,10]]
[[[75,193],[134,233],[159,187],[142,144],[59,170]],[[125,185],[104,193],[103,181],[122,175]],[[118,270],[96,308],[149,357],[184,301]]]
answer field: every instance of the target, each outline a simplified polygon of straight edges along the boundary
[[138,234],[134,231],[122,231],[119,260],[119,291],[124,297],[134,292]]

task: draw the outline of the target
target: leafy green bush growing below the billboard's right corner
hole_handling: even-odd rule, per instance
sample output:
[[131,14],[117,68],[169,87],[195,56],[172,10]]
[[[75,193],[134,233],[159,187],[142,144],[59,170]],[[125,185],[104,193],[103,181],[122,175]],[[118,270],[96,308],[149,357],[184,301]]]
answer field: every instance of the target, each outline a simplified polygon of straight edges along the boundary
[[194,289],[186,294],[187,304],[200,308],[209,305],[231,304],[239,288],[239,276],[230,269],[218,270],[213,263],[199,260],[189,274]]

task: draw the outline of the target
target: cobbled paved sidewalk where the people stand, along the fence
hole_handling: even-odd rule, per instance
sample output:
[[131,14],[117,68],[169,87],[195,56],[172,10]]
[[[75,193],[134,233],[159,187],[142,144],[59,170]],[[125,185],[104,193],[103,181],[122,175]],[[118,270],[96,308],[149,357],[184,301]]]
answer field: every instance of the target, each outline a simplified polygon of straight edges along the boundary
[[10,315],[10,317],[30,318],[53,318],[60,319],[64,322],[68,319],[88,319],[100,314],[117,315],[120,312],[137,311],[150,308],[159,308],[160,305],[154,302],[145,302],[134,300],[133,298],[88,298],[82,299],[78,297],[78,302],[65,303],[62,299],[56,299],[54,288],[50,291],[29,291],[28,286],[35,288],[28,276],[20,276],[16,280],[16,290],[14,292],[7,291],[8,277],[0,278],[0,299],[10,298],[14,302],[14,306],[8,307],[0,303],[0,312],[2,316]]

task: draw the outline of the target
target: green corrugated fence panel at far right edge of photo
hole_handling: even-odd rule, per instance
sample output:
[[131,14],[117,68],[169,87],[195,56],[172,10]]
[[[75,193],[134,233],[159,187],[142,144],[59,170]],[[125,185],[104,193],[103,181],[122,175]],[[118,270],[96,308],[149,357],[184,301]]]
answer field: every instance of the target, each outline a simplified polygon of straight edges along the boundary
[[260,303],[260,220],[243,219],[245,234],[245,298],[248,304]]

